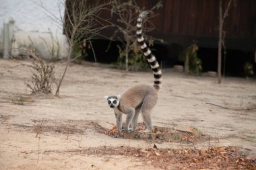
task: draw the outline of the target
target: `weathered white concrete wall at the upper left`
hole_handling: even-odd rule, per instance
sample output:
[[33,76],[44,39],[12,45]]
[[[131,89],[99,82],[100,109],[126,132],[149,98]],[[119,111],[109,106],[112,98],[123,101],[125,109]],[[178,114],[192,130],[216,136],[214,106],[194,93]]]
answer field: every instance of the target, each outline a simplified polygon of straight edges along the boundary
[[[69,46],[62,26],[53,21],[40,4],[51,11],[58,19],[64,15],[63,1],[59,0],[8,0],[0,5],[0,46],[3,46],[3,23],[12,18],[13,29],[9,25],[9,48],[12,56],[19,56],[21,50],[16,48],[30,48],[32,40],[38,53],[44,58],[65,58]],[[61,9],[59,11],[59,9]],[[10,31],[13,32],[10,33]],[[30,37],[30,39],[29,39]],[[6,43],[5,43],[6,44]],[[1,49],[3,52],[3,48]],[[10,54],[10,53],[9,53]]]

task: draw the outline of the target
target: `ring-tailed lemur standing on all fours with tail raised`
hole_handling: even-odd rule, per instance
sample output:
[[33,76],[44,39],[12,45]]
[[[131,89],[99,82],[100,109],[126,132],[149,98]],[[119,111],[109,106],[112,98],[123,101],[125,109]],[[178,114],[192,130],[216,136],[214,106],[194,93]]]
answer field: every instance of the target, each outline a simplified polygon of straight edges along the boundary
[[[154,86],[150,85],[136,85],[127,90],[123,95],[117,96],[105,96],[106,101],[110,108],[114,108],[115,116],[117,119],[117,134],[115,138],[121,137],[122,128],[122,115],[126,114],[125,132],[129,133],[137,128],[137,119],[139,112],[141,112],[144,123],[147,129],[141,131],[142,133],[151,132],[153,126],[151,122],[151,110],[156,105],[158,100],[158,90],[162,83],[162,71],[160,65],[156,60],[154,54],[152,54],[150,48],[146,45],[146,42],[142,36],[142,20],[148,14],[148,11],[143,11],[137,18],[137,42],[143,52],[143,55],[150,63],[154,75]],[[132,128],[129,129],[129,125]]]

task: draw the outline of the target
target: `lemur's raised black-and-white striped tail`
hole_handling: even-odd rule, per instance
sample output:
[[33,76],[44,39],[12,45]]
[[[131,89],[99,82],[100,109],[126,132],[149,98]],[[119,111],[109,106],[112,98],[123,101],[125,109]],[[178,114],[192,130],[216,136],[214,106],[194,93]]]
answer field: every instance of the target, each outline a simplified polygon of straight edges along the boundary
[[148,62],[150,63],[150,67],[154,74],[154,87],[158,90],[160,89],[160,85],[162,83],[162,71],[160,69],[160,65],[158,64],[158,61],[156,60],[156,57],[154,56],[154,54],[152,54],[150,48],[148,48],[146,41],[142,36],[142,20],[143,17],[145,17],[147,14],[148,11],[143,11],[141,12],[137,19],[137,41],[143,52],[143,55],[147,58]]

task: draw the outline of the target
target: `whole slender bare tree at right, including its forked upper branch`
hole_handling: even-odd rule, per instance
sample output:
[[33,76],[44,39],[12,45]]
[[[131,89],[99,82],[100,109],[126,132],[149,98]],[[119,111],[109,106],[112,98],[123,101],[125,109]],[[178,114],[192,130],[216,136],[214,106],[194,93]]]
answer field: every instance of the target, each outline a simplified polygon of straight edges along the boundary
[[224,34],[223,31],[223,24],[228,16],[228,11],[232,4],[236,4],[236,0],[229,0],[228,4],[226,5],[226,9],[224,14],[222,12],[222,0],[219,0],[219,40],[218,40],[218,83],[222,83],[222,45],[224,44]]

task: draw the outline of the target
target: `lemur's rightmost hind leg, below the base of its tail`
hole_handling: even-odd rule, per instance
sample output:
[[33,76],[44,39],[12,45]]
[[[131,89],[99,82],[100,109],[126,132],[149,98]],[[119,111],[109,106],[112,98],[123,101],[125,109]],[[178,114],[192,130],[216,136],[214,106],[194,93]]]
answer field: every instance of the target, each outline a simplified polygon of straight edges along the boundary
[[158,99],[158,96],[156,93],[150,93],[146,95],[146,97],[143,100],[143,103],[141,105],[141,115],[144,121],[144,124],[146,125],[146,130],[141,130],[141,133],[148,133],[151,132],[153,129],[152,122],[151,122],[151,111],[156,105],[156,101]]

